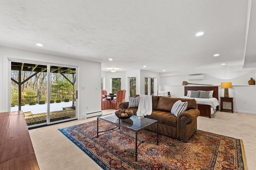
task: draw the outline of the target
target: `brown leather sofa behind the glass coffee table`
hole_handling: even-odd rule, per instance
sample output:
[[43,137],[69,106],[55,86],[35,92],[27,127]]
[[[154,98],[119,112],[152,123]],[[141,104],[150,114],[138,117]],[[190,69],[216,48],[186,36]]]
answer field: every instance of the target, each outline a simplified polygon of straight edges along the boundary
[[[188,108],[176,117],[171,113],[171,109],[173,104],[178,100],[182,102],[187,101]],[[128,106],[129,102],[123,102],[119,105],[119,108],[127,109]],[[136,115],[138,110],[138,108],[128,109],[133,110],[134,115]],[[199,115],[200,111],[197,109],[196,100],[194,99],[152,96],[152,114],[147,115],[146,118],[158,120],[158,133],[174,137],[182,142],[188,142],[188,139],[197,130],[197,117]],[[147,129],[156,131],[156,124]]]

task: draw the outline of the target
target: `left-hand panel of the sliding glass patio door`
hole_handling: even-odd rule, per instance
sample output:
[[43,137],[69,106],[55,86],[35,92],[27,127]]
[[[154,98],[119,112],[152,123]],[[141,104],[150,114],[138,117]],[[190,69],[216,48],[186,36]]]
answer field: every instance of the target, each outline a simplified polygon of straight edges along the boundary
[[11,111],[22,110],[28,126],[47,122],[47,65],[11,62]]

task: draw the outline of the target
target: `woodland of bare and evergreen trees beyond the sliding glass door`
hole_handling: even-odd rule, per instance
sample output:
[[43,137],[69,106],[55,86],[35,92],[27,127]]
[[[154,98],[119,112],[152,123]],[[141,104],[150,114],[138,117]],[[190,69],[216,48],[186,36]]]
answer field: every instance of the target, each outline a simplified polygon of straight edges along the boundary
[[[22,63],[23,64],[23,63]],[[32,68],[31,68],[32,69]],[[11,106],[18,105],[18,84],[21,84],[21,106],[31,103],[39,103],[40,101],[47,101],[47,70],[42,72],[35,71],[19,71],[11,70]],[[35,74],[33,76],[33,74]],[[50,73],[50,100],[72,100],[76,94],[76,86],[74,84],[74,91],[72,91],[72,74]],[[32,76],[32,77],[31,77]],[[21,80],[19,80],[19,77]],[[75,98],[74,98],[75,100]]]

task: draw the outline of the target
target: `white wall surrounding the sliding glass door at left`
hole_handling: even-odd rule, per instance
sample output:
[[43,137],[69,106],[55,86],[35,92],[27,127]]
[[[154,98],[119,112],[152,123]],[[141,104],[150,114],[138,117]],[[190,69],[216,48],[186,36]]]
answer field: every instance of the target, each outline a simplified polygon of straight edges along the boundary
[[[9,60],[78,67],[76,75],[78,119],[83,118],[83,113],[101,111],[101,63],[0,46],[0,112],[10,111],[11,78]],[[81,86],[84,86],[85,89],[81,90]],[[88,109],[86,109],[86,106],[88,106]]]

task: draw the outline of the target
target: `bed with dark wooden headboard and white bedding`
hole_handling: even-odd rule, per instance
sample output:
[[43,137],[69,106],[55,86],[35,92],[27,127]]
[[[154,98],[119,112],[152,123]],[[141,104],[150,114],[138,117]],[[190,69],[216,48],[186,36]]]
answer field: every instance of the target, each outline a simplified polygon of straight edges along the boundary
[[188,90],[195,90],[195,91],[213,90],[213,94],[212,94],[213,98],[209,98],[209,99],[194,98],[198,104],[198,109],[200,111],[201,116],[208,116],[209,118],[211,118],[211,115],[215,113],[216,110],[219,109],[220,102],[218,101],[218,98],[219,98],[218,86],[184,86],[184,97],[182,98],[190,98],[190,97],[187,97]]

